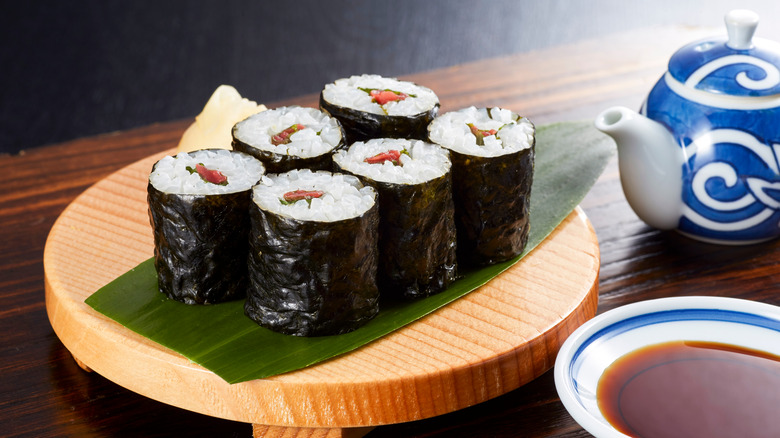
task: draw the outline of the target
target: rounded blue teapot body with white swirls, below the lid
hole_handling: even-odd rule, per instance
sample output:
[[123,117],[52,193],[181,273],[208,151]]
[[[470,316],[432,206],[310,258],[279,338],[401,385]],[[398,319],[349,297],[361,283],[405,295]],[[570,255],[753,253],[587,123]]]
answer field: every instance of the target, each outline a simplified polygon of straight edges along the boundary
[[675,127],[670,131],[683,148],[678,229],[716,240],[780,234],[780,108],[717,108],[687,97],[661,80],[645,109]]

